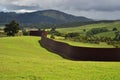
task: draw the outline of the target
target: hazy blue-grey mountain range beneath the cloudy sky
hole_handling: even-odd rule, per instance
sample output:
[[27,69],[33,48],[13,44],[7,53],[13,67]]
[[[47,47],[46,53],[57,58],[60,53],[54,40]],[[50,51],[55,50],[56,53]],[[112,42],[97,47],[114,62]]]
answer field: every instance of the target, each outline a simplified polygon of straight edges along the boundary
[[57,10],[43,10],[31,13],[0,12],[0,24],[16,20],[20,24],[63,24],[69,22],[93,21],[86,17],[70,15]]

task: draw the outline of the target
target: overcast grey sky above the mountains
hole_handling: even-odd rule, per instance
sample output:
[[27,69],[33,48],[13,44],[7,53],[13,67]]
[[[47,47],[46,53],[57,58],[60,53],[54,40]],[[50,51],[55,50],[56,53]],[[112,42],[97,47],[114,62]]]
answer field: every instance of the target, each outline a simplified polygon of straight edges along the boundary
[[0,0],[0,11],[55,9],[92,19],[120,19],[120,0]]

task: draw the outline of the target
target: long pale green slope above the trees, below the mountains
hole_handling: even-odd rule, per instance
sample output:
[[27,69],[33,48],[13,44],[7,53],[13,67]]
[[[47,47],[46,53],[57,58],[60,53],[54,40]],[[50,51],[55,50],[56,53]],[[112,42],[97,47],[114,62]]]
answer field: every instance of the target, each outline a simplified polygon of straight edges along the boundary
[[111,22],[111,23],[88,24],[84,26],[71,27],[71,28],[58,28],[57,30],[63,33],[69,33],[69,32],[83,32],[83,29],[86,29],[86,31],[88,31],[92,28],[102,28],[102,27],[106,27],[109,30],[112,30],[114,27],[116,27],[118,30],[120,30],[120,21]]

